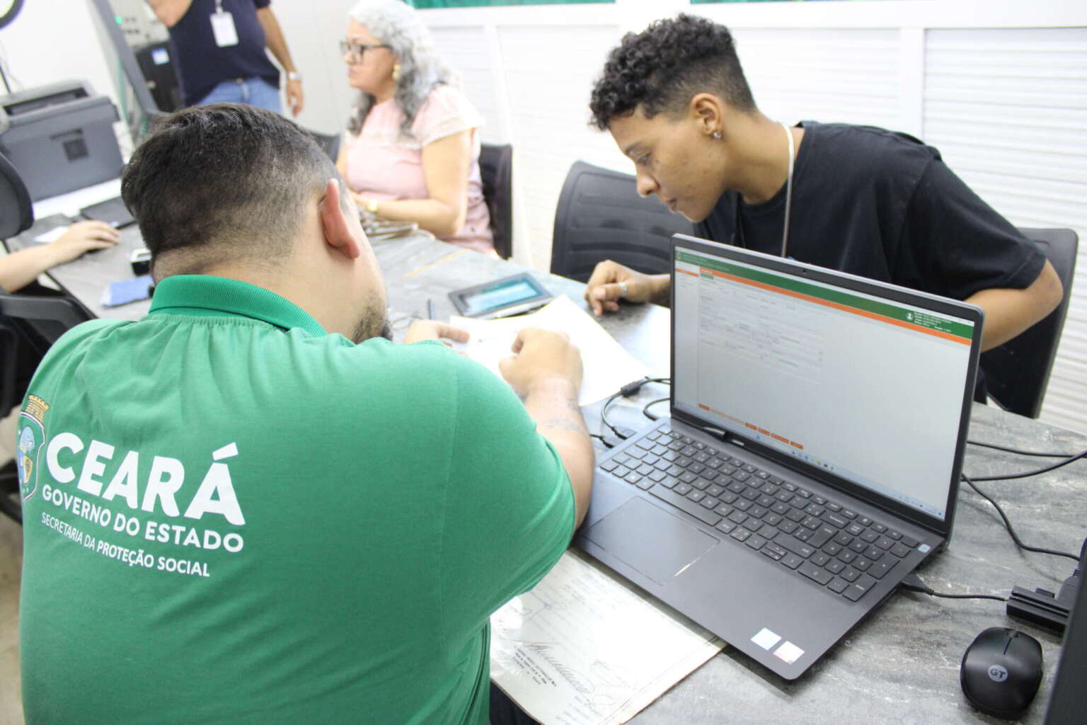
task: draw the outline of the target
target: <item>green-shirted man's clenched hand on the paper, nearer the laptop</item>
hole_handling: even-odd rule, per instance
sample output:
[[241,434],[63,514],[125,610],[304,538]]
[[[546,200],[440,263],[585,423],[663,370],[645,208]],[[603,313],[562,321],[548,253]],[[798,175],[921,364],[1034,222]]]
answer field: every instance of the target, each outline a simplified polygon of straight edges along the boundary
[[514,357],[499,361],[498,368],[510,387],[522,397],[548,380],[564,380],[582,387],[582,353],[565,333],[525,327],[511,348]]

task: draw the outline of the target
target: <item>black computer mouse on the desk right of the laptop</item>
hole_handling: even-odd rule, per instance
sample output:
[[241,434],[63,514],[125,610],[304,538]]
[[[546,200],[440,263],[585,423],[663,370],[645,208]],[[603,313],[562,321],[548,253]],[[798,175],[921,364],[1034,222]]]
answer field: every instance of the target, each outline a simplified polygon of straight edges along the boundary
[[1019,629],[989,627],[963,653],[959,682],[974,708],[1014,720],[1041,684],[1041,645]]

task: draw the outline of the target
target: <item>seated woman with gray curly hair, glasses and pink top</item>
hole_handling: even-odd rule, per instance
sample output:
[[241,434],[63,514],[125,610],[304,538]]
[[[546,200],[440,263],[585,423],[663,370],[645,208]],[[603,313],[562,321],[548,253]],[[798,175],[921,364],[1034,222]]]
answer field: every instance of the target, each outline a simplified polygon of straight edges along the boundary
[[493,253],[479,176],[483,116],[401,0],[361,0],[340,41],[359,103],[336,162],[361,209]]

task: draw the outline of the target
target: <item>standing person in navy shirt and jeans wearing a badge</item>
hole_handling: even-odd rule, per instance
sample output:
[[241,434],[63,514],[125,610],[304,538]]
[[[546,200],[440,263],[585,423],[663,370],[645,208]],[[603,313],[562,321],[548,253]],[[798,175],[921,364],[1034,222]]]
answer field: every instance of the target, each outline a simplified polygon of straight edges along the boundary
[[287,73],[287,104],[302,111],[302,76],[290,59],[272,0],[147,0],[170,30],[186,105],[248,103],[282,113],[279,71]]

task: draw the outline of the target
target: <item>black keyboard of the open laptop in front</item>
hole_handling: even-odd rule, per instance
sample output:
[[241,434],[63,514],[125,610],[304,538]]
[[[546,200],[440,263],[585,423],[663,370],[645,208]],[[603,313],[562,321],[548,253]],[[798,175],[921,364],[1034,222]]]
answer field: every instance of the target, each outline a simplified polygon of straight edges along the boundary
[[920,543],[667,420],[600,467],[854,602]]

